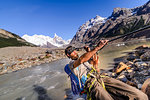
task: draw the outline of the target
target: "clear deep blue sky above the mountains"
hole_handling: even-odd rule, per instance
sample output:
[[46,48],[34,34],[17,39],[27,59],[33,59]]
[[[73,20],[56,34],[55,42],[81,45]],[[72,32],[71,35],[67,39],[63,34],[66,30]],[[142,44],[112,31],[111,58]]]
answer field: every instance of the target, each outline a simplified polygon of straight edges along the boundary
[[134,8],[149,0],[0,0],[0,28],[19,36],[54,33],[67,40],[96,15],[108,17],[113,8]]

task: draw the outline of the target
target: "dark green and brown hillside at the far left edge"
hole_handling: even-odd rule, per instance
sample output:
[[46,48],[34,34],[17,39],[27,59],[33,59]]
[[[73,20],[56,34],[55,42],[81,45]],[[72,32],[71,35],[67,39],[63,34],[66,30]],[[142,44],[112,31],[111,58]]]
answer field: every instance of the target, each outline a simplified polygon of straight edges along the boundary
[[28,43],[18,35],[8,32],[6,30],[0,29],[0,48],[8,46],[35,46]]

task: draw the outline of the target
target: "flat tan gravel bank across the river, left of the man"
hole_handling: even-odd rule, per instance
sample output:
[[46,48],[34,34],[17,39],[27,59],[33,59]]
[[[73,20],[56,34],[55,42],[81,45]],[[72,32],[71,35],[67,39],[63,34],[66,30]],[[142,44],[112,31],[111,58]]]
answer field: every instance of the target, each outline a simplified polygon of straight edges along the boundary
[[0,74],[65,58],[63,49],[40,47],[0,48]]

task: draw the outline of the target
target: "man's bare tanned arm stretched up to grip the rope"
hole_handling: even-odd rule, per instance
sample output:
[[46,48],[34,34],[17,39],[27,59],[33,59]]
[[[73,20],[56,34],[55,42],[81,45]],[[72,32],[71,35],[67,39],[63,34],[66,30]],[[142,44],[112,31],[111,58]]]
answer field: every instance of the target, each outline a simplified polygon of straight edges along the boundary
[[89,52],[84,53],[80,58],[74,61],[74,68],[78,67],[80,64],[88,61],[98,50],[100,50],[108,40],[101,40],[97,47]]

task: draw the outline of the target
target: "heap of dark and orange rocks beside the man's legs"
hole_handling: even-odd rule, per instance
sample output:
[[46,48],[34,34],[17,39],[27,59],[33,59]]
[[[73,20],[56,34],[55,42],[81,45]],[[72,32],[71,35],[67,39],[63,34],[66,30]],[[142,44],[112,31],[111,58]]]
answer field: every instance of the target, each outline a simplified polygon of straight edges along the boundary
[[127,52],[127,56],[118,59],[121,62],[116,63],[110,70],[103,70],[102,75],[134,86],[146,93],[150,99],[150,47],[139,46],[132,52]]

